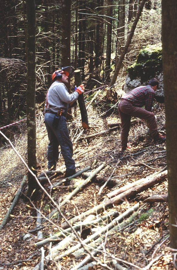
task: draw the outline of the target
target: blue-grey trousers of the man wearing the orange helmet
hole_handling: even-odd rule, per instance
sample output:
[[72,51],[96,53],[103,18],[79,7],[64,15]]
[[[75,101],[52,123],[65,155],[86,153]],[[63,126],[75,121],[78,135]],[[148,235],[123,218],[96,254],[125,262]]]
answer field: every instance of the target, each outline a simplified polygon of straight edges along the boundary
[[59,145],[61,154],[64,158],[66,171],[75,171],[75,162],[73,156],[73,143],[70,140],[69,132],[67,129],[66,118],[60,116],[59,125],[57,128],[53,127],[53,120],[55,115],[52,113],[45,113],[45,126],[48,133],[49,144],[47,150],[48,169],[52,166],[56,167],[59,160]]

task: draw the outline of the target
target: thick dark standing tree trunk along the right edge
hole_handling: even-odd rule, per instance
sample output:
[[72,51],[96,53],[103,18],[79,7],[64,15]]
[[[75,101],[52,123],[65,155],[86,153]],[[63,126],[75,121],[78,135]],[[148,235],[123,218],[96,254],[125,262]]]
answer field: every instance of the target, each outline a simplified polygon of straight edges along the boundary
[[[162,0],[162,60],[166,113],[170,245],[177,249],[177,2]],[[175,226],[173,226],[173,224]],[[176,266],[175,266],[176,267]],[[176,268],[177,269],[177,268]]]

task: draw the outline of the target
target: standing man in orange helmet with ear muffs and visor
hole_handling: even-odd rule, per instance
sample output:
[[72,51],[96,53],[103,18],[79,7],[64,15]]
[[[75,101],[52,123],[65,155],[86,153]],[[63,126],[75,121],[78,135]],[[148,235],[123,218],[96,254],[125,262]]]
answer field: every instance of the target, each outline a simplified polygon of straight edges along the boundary
[[55,170],[59,159],[59,145],[64,158],[66,173],[69,177],[76,172],[73,156],[73,144],[69,137],[66,123],[68,107],[84,93],[84,85],[75,87],[74,93],[68,93],[65,84],[68,83],[68,70],[70,67],[61,68],[52,74],[53,83],[50,86],[45,102],[45,126],[48,133],[49,144],[47,150],[48,170]]

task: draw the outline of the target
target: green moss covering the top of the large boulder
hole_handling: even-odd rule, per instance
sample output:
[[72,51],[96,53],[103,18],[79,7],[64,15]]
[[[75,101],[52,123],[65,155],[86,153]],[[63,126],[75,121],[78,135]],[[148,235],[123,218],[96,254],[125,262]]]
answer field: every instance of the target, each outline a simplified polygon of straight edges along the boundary
[[159,45],[148,45],[142,49],[136,63],[127,68],[131,80],[139,77],[142,82],[155,77],[162,72],[162,47]]

